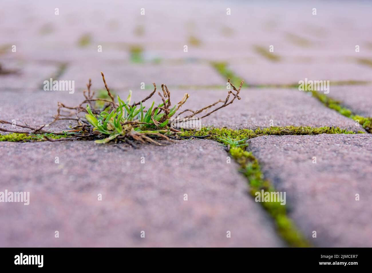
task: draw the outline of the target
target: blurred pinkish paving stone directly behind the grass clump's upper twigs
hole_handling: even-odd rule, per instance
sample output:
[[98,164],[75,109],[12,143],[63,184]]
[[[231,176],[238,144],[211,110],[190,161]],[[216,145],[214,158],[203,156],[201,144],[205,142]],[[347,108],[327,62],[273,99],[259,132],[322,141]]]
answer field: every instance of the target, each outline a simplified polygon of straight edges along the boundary
[[224,84],[222,78],[209,64],[137,64],[123,65],[108,62],[77,64],[67,68],[63,79],[74,80],[76,88],[86,87],[87,80],[104,88],[100,72],[105,74],[110,88],[122,90],[124,87],[137,87],[141,83],[152,85],[166,83],[167,85],[217,85]]

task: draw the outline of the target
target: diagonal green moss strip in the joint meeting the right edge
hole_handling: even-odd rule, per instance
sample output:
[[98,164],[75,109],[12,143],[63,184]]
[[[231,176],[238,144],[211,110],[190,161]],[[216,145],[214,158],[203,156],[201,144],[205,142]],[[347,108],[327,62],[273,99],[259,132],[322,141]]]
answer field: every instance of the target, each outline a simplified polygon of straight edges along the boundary
[[353,113],[352,110],[344,107],[340,101],[334,100],[333,98],[328,97],[325,94],[321,94],[317,91],[308,91],[311,92],[312,96],[320,100],[325,106],[336,110],[341,115],[352,118],[355,121],[358,121],[359,124],[366,130],[368,133],[372,133],[372,117],[363,117]]

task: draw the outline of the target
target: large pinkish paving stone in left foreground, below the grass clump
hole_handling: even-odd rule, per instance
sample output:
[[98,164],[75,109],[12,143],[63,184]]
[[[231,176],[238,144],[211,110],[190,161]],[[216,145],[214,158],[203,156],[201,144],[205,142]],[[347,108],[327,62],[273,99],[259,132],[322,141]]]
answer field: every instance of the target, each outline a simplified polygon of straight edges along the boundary
[[283,246],[211,140],[125,152],[93,142],[0,147],[0,191],[30,192],[28,206],[1,203],[2,247]]

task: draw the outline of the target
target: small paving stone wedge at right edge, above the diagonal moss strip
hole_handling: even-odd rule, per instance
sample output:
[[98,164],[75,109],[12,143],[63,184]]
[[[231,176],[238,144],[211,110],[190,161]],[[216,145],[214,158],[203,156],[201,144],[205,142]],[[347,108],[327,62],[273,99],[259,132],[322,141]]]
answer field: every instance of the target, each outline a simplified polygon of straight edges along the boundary
[[343,105],[354,113],[372,117],[372,85],[334,86],[331,87],[330,97],[340,100]]

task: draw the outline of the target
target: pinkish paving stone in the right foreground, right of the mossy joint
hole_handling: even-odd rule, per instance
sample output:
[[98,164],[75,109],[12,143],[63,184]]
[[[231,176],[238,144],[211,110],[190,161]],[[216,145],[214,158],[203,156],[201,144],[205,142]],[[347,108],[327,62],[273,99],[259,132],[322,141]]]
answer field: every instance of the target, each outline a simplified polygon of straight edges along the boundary
[[261,136],[248,149],[276,190],[286,192],[289,216],[311,243],[371,247],[371,144],[371,134]]

